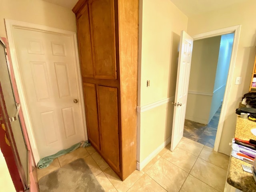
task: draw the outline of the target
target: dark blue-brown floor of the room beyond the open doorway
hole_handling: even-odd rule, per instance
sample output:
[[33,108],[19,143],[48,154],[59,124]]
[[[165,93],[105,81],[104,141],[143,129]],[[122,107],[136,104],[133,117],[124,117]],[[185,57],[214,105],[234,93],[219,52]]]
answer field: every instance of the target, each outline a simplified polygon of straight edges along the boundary
[[214,114],[208,125],[185,119],[183,136],[213,148],[220,118],[221,107],[222,106],[219,107],[218,111]]

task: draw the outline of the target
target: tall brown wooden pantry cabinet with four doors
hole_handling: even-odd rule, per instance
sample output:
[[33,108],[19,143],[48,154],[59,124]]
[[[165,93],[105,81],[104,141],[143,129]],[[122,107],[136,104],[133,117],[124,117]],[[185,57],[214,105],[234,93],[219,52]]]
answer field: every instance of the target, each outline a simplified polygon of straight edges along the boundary
[[88,138],[122,179],[136,169],[138,0],[74,6]]

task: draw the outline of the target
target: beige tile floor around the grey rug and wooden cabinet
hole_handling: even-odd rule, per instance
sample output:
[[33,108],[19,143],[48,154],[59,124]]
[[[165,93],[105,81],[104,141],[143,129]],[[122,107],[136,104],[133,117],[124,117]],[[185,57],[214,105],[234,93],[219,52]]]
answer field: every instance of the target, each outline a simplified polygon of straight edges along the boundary
[[84,158],[106,192],[222,192],[229,156],[183,137],[171,152],[166,146],[142,171],[135,170],[123,182],[92,148],[78,148],[38,170],[38,180],[77,158]]

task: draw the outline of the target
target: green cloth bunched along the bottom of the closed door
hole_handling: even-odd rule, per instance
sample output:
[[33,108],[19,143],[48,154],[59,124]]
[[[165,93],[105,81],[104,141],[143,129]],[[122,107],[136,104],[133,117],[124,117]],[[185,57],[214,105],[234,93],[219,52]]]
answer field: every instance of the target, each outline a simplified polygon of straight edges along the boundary
[[88,142],[88,140],[85,141],[85,142],[79,142],[77,144],[74,144],[73,146],[71,146],[68,149],[61,150],[61,151],[57,152],[56,154],[53,154],[53,155],[50,155],[50,156],[47,156],[47,157],[44,157],[44,158],[40,159],[38,164],[37,164],[37,167],[39,169],[46,168],[53,162],[54,159],[56,159],[56,158],[58,158],[58,157],[60,157],[64,154],[70,153],[70,152],[76,150],[77,148],[79,148],[80,146],[81,147],[88,147],[90,145],[91,144]]

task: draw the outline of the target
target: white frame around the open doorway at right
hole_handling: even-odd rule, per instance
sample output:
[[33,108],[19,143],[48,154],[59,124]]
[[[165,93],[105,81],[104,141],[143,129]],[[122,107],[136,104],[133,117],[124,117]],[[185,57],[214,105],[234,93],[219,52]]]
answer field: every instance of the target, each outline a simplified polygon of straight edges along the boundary
[[205,38],[209,38],[209,37],[214,37],[214,36],[219,36],[219,35],[224,35],[224,34],[234,32],[234,42],[233,42],[231,59],[230,59],[230,66],[229,66],[229,70],[228,70],[228,79],[227,79],[226,89],[225,89],[225,93],[224,93],[222,108],[221,108],[221,112],[220,112],[220,119],[219,119],[219,124],[218,124],[218,128],[217,128],[216,139],[215,139],[215,143],[214,143],[214,151],[217,151],[217,152],[218,152],[219,145],[220,145],[220,138],[221,138],[223,124],[224,124],[224,120],[226,117],[226,111],[227,111],[227,107],[228,107],[228,95],[230,92],[230,87],[232,84],[231,81],[232,81],[235,63],[236,63],[236,54],[237,54],[237,50],[238,50],[240,30],[241,30],[241,25],[236,25],[236,26],[222,28],[222,29],[205,32],[205,33],[201,33],[201,34],[192,36],[192,38],[194,40],[199,40],[199,39],[205,39]]

